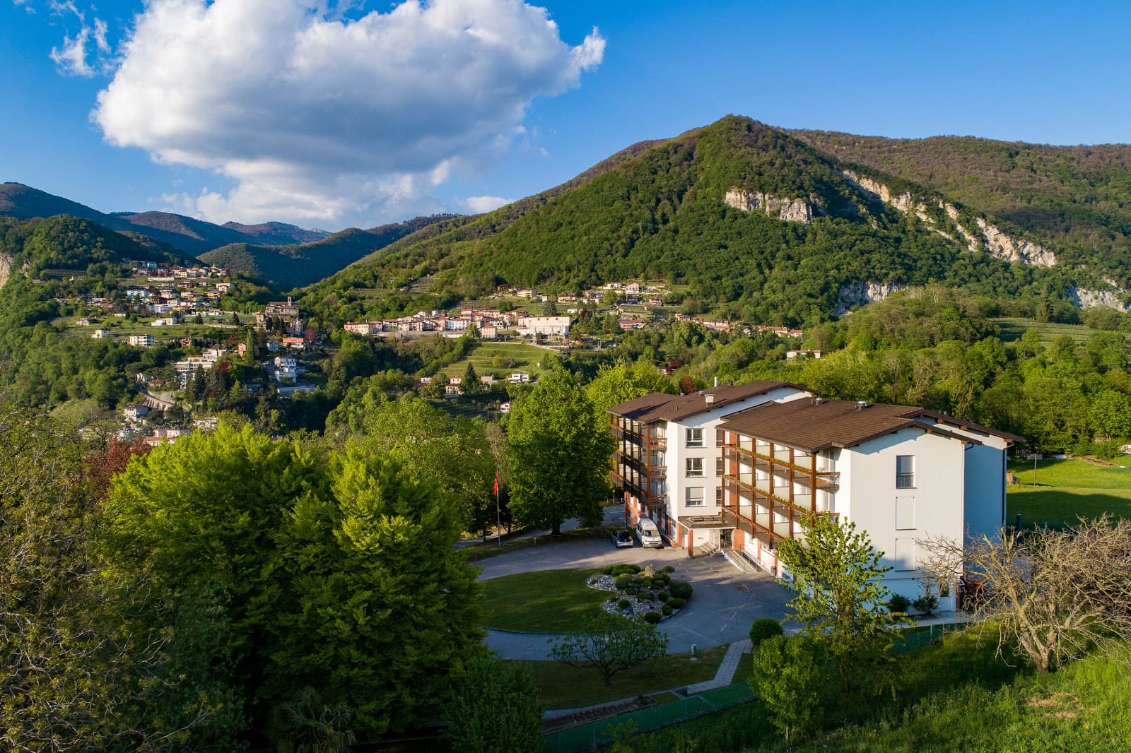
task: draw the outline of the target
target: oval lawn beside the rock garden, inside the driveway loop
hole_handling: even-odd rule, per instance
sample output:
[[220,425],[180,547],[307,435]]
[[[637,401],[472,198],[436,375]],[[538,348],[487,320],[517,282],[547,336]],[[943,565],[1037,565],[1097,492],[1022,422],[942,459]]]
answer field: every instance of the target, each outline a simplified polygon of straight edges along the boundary
[[485,580],[483,625],[524,633],[576,630],[612,596],[585,585],[595,572],[537,570]]

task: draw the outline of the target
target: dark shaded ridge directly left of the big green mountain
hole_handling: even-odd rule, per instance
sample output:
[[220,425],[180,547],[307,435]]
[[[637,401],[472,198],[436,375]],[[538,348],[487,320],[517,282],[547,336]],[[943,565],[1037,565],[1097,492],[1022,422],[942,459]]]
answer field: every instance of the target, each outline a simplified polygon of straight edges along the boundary
[[353,227],[312,243],[292,245],[233,243],[202,253],[200,259],[218,267],[247,272],[279,287],[301,287],[329,277],[362,257],[423,227],[452,218],[454,215],[434,215],[371,230]]

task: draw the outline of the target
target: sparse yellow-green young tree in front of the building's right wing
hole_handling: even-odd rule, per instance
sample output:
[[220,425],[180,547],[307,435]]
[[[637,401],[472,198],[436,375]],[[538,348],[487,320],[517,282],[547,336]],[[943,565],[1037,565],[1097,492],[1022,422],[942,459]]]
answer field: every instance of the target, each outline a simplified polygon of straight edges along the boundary
[[891,568],[880,564],[882,553],[872,548],[867,534],[856,533],[853,522],[818,513],[804,526],[803,542],[786,539],[778,547],[778,559],[794,577],[791,618],[803,622],[805,633],[828,647],[847,691],[857,665],[875,669],[886,663],[891,617],[882,577]]

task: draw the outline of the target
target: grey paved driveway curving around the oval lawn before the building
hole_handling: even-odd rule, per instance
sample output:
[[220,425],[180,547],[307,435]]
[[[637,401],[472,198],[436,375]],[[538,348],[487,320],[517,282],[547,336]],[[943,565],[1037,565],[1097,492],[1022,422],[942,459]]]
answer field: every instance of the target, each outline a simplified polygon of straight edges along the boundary
[[[480,580],[533,570],[581,570],[606,564],[651,563],[658,570],[672,565],[673,578],[687,580],[696,592],[680,614],[659,623],[667,633],[667,650],[682,654],[725,646],[749,638],[750,624],[759,617],[780,620],[792,594],[766,573],[744,573],[722,554],[688,557],[683,549],[664,547],[615,549],[605,540],[580,540],[530,547],[491,557],[483,563]],[[487,646],[504,659],[549,659],[552,635],[487,631]]]

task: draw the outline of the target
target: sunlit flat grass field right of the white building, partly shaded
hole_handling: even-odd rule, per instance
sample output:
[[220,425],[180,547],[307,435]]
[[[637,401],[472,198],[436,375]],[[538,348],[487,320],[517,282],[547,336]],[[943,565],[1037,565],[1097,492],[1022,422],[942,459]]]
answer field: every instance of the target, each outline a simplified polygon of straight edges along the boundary
[[1034,483],[1033,461],[1009,464],[1020,484],[1007,490],[1008,519],[1021,514],[1029,523],[1062,525],[1077,517],[1095,518],[1110,512],[1131,518],[1131,458],[1110,467],[1081,460],[1038,460]]

